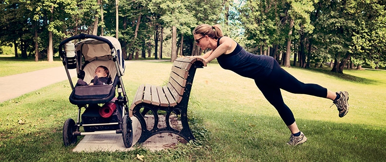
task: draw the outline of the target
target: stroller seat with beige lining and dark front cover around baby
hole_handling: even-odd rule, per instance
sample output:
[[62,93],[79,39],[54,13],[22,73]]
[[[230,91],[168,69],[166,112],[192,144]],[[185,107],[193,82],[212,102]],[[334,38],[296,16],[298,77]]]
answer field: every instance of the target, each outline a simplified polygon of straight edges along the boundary
[[116,67],[113,60],[95,60],[84,66],[83,71],[85,73],[83,81],[90,83],[94,79],[95,69],[100,66],[106,66],[110,72],[112,84],[109,85],[85,85],[75,86],[69,99],[72,104],[97,104],[106,103],[111,101],[116,93],[116,84],[118,79],[116,78]]

